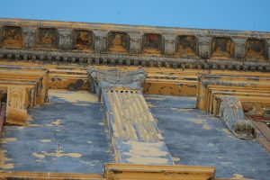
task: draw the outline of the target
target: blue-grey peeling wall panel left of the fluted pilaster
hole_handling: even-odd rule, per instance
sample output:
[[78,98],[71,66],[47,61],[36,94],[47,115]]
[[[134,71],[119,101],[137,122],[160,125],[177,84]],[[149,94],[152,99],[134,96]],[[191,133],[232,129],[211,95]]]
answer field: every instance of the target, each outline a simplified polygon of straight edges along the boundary
[[27,126],[4,126],[0,171],[102,174],[113,162],[102,105],[67,97],[86,93],[58,92],[29,110]]

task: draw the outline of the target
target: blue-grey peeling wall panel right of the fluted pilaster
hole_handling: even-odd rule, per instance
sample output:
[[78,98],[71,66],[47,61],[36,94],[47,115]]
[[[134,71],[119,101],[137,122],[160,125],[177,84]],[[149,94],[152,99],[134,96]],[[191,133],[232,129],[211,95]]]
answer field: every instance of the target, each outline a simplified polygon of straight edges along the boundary
[[269,179],[270,154],[257,140],[235,138],[220,119],[190,106],[193,97],[158,97],[165,99],[146,101],[176,165],[216,166],[222,178]]

